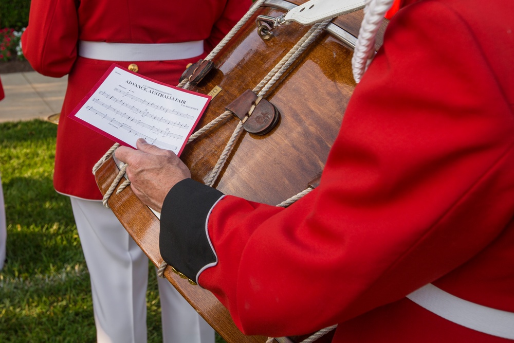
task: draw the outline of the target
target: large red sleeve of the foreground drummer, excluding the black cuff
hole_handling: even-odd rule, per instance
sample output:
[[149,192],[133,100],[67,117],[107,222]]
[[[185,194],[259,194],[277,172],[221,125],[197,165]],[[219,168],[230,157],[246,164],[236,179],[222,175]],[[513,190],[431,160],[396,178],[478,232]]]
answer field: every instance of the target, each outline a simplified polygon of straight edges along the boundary
[[[512,47],[507,30],[493,35]],[[311,332],[396,301],[505,228],[512,84],[501,87],[481,44],[440,2],[400,11],[347,106],[320,186],[287,209],[217,203],[208,234],[218,262],[199,283],[244,333]]]

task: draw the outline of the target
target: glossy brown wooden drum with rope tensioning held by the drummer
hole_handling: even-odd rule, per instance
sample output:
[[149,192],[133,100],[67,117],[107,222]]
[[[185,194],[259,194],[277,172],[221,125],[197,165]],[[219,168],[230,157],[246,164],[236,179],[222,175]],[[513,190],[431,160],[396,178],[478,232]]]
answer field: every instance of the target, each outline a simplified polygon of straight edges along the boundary
[[[196,130],[223,114],[245,91],[254,89],[310,29],[293,22],[273,29],[272,37],[265,40],[258,33],[257,16],[278,17],[303,2],[264,3],[212,58],[214,68],[198,84],[189,87],[195,92],[215,94]],[[263,135],[242,131],[235,136],[231,152],[213,179],[213,187],[225,194],[270,205],[316,187],[355,87],[351,58],[361,20],[362,11],[334,19],[266,92],[263,98],[280,113],[276,125]],[[377,39],[377,47],[380,44]],[[212,177],[218,158],[239,122],[235,115],[229,115],[188,143],[180,158],[191,169],[193,179],[206,183]],[[113,158],[98,168],[95,176],[103,194],[117,174]],[[159,253],[157,217],[130,187],[119,194],[113,193],[108,205],[146,255],[159,266],[163,260]],[[228,342],[266,341],[266,337],[243,335],[210,292],[189,284],[170,269],[166,268],[164,276]],[[296,342],[301,338],[276,340]],[[330,335],[318,342],[329,339]]]

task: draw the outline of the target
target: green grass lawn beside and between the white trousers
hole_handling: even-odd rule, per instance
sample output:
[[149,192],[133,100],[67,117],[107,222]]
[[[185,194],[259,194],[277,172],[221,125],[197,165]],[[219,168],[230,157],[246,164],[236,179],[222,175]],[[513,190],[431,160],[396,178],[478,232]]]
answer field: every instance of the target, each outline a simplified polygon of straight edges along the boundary
[[[7,262],[0,272],[0,342],[94,342],[89,274],[69,198],[52,186],[57,125],[0,123]],[[161,341],[149,265],[148,341]],[[217,342],[224,340],[217,336]]]

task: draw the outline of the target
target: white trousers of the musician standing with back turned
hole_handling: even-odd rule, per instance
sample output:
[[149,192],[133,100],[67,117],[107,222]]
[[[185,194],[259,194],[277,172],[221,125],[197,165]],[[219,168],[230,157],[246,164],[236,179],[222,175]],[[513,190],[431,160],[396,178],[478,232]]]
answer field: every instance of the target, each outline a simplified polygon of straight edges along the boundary
[[[91,279],[100,343],[146,342],[148,258],[100,201],[71,197]],[[214,330],[166,279],[158,280],[164,343],[213,343]]]

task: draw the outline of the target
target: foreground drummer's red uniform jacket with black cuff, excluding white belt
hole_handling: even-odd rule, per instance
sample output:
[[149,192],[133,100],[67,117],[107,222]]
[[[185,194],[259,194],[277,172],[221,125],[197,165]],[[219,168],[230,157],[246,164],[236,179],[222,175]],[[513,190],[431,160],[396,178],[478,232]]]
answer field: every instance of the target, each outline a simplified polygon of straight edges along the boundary
[[[183,180],[164,201],[164,259],[213,292],[246,334],[339,323],[341,343],[510,341],[405,297],[433,283],[514,312],[513,19],[511,0],[400,10],[355,88],[320,186],[283,209],[219,200]],[[203,220],[181,212],[198,202]]]

